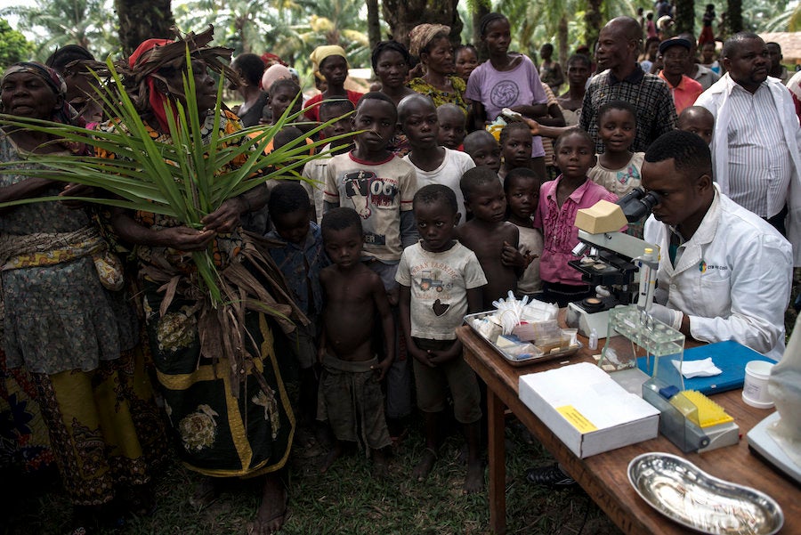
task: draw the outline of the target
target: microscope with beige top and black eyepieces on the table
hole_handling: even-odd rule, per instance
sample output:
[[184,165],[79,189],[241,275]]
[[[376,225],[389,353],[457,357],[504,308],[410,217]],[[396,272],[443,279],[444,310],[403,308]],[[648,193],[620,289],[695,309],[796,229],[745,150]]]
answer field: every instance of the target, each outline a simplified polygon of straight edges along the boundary
[[593,207],[578,210],[579,243],[572,253],[580,258],[568,264],[581,272],[581,280],[591,288],[607,289],[604,295],[568,304],[567,323],[583,336],[589,336],[594,329],[597,334],[605,334],[609,311],[615,306],[637,304],[641,310],[651,308],[659,246],[620,229],[651,214],[658,203],[659,195],[636,188],[617,203],[601,200]]

